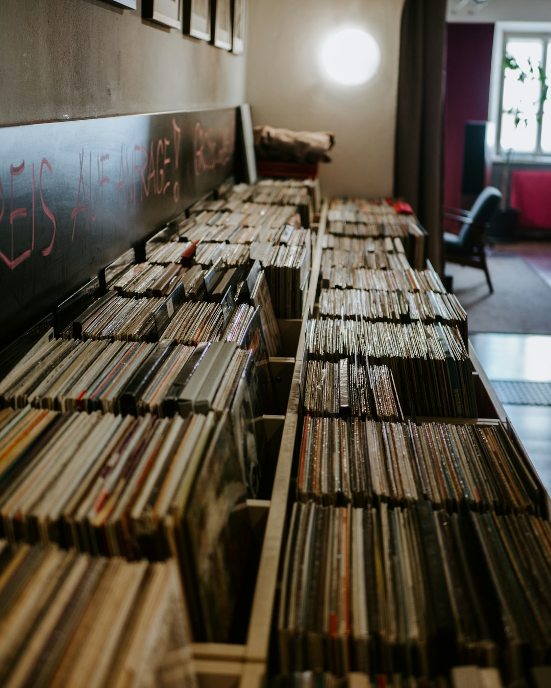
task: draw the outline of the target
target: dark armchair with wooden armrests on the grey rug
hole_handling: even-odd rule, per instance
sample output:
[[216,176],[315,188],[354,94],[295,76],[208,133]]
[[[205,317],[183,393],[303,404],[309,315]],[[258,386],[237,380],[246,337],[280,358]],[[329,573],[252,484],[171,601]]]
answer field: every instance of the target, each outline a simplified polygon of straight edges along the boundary
[[470,211],[445,208],[444,217],[459,222],[459,234],[444,232],[445,260],[448,263],[484,270],[490,293],[494,291],[488,264],[486,264],[486,232],[499,202],[501,192],[494,186],[486,186]]

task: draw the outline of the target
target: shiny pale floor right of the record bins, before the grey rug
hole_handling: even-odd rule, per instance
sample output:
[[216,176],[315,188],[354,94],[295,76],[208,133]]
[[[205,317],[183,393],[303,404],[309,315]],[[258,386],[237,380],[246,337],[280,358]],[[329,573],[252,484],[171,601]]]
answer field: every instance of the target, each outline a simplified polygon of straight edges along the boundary
[[551,336],[477,333],[470,341],[551,494]]

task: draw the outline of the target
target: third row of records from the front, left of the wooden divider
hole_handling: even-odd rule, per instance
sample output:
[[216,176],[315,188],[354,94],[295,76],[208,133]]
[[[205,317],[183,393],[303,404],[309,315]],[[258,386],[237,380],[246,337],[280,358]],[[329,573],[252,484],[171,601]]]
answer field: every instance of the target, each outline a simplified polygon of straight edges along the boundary
[[14,408],[32,404],[162,418],[229,408],[243,378],[242,386],[255,398],[253,407],[262,399],[263,407],[271,409],[261,328],[257,311],[245,332],[230,331],[224,341],[211,334],[209,341],[194,342],[196,346],[173,339],[139,343],[52,338],[0,381],[0,399]]

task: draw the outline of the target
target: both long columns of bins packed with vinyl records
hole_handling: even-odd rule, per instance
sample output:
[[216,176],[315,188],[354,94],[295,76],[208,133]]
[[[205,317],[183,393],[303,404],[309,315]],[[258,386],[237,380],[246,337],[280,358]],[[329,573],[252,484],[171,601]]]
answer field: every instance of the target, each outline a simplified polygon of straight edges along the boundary
[[[314,187],[220,187],[0,380],[0,605],[15,589],[9,618],[32,628],[0,636],[0,682],[120,685],[157,643],[177,650],[155,653],[161,686],[194,687],[191,656],[216,688],[265,671],[450,688],[464,665],[499,688],[549,663],[548,502],[473,369],[466,312],[413,217],[335,200],[315,232]],[[285,417],[278,323],[300,323]],[[169,580],[189,614],[174,638]],[[101,643],[79,658],[64,631],[97,639],[110,620],[94,667]]]

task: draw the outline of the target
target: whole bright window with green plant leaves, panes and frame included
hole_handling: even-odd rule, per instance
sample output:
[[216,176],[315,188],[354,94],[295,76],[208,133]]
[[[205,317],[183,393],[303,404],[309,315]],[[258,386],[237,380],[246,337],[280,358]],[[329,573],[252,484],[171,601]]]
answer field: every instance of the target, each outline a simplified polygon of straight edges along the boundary
[[495,153],[551,162],[551,27],[498,24],[496,34],[493,116],[490,112],[496,125]]

